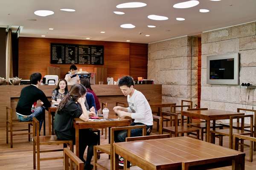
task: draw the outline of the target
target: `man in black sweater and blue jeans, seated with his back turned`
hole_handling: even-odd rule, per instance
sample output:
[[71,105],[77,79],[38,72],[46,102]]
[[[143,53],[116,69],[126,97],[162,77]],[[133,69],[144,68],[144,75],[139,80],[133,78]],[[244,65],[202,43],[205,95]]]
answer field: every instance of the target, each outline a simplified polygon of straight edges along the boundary
[[[42,75],[40,73],[33,73],[30,75],[31,85],[24,87],[20,92],[20,99],[16,107],[17,118],[20,121],[28,122],[32,121],[33,117],[36,117],[40,122],[40,129],[44,121],[45,108],[51,106],[44,92],[38,87],[41,84]],[[32,108],[32,105],[35,108]],[[43,106],[44,105],[44,106]]]

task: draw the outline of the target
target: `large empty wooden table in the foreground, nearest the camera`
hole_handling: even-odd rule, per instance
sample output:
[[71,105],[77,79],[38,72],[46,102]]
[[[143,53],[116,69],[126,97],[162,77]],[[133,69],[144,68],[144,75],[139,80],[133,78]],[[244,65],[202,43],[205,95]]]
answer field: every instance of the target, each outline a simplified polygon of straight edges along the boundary
[[[204,167],[224,167],[244,170],[245,153],[221,147],[187,136],[114,143],[114,169],[118,170],[118,155],[143,170],[177,170],[183,161],[205,160]],[[221,158],[221,159],[220,159]],[[207,164],[207,160],[218,163]],[[207,164],[207,165],[206,165]],[[197,170],[203,167],[197,168]]]

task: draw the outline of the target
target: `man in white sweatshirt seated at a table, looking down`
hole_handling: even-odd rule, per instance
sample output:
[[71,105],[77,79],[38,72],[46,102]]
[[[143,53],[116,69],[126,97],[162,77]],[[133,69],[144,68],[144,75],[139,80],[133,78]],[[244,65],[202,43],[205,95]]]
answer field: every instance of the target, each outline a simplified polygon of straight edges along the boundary
[[[123,108],[121,106],[116,106],[113,108],[114,112],[121,118],[128,116],[134,119],[131,126],[147,125],[147,135],[149,135],[153,126],[153,116],[147,99],[140,91],[134,89],[134,81],[129,76],[122,77],[119,80],[118,86],[122,93],[127,96],[129,107]],[[132,129],[131,137],[134,136],[142,136],[142,129]],[[122,130],[118,132],[118,134],[115,134],[115,141],[125,142],[126,137],[127,130]]]

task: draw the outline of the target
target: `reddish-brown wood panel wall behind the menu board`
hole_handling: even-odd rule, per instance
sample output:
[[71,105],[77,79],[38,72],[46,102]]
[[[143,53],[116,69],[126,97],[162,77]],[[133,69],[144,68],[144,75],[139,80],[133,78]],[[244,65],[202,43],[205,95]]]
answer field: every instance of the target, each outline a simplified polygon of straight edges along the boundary
[[113,77],[114,80],[124,75],[131,75],[133,77],[143,76],[141,74],[147,75],[147,44],[19,37],[18,69],[20,78],[29,79],[30,74],[34,72],[40,72],[44,76],[47,74],[47,67],[49,66],[60,67],[61,77],[65,76],[67,71],[69,71],[69,64],[50,64],[51,42],[104,45],[104,65],[76,65],[78,68],[88,72],[93,72],[93,68],[96,67],[108,68],[108,77]]

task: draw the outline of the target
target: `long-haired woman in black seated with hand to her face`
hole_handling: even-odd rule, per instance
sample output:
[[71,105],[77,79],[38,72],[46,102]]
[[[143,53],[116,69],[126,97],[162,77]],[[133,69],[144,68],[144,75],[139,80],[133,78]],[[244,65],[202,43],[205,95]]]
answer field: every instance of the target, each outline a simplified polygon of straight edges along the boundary
[[[58,105],[55,114],[54,130],[58,139],[73,140],[75,143],[76,133],[73,127],[74,118],[80,118],[89,121],[89,116],[95,116],[95,113],[88,112],[84,102],[86,88],[83,85],[76,84],[70,89],[70,94],[64,97]],[[90,161],[93,157],[93,145],[98,142],[97,135],[90,129],[79,130],[79,159],[84,161],[84,169],[91,170],[93,165]],[[87,149],[87,158],[84,160],[84,151]]]

